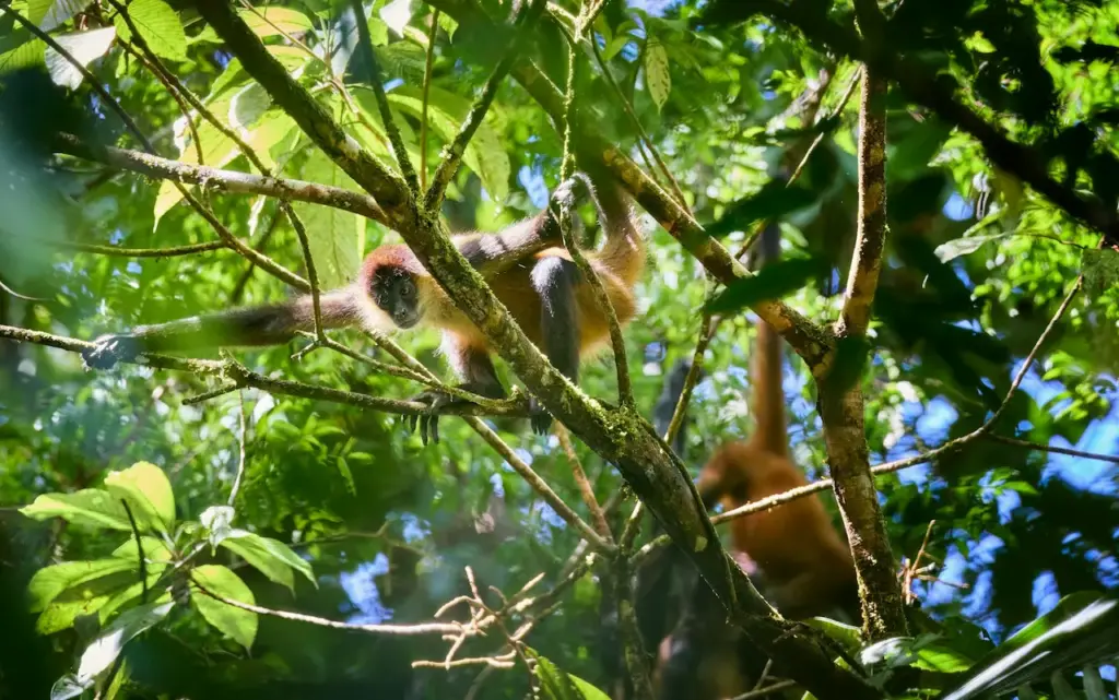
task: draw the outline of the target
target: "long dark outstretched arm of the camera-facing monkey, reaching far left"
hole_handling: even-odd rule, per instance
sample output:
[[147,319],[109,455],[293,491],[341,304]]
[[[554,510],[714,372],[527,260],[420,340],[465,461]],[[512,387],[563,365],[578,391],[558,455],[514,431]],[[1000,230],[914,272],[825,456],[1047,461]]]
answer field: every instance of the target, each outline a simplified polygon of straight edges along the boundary
[[[358,306],[349,288],[321,294],[319,303],[323,328],[345,328],[359,322]],[[310,295],[305,295],[282,304],[233,309],[102,335],[82,357],[88,367],[109,369],[144,352],[278,346],[299,331],[313,330],[314,309]]]

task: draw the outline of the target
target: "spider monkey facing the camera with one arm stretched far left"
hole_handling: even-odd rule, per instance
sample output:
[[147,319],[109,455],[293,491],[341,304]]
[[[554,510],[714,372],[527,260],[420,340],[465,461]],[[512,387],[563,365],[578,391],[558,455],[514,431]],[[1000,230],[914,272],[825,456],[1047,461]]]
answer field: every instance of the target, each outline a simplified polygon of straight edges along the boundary
[[[609,182],[595,192],[594,185]],[[621,188],[600,173],[576,173],[553,192],[549,206],[536,216],[496,234],[454,237],[459,252],[486,277],[528,339],[572,381],[579,380],[583,357],[609,340],[606,316],[595,303],[582,272],[562,247],[554,209],[590,199],[605,234],[600,250],[589,255],[591,267],[606,288],[618,321],[633,319],[633,285],[645,266],[645,240],[630,201]],[[573,217],[577,220],[579,217]],[[434,277],[405,245],[372,250],[357,280],[347,287],[320,294],[325,328],[360,327],[375,330],[439,328],[442,351],[462,378],[459,388],[488,398],[506,391],[490,359],[486,337],[454,305]],[[132,332],[103,335],[83,353],[88,367],[107,369],[144,352],[228,346],[273,346],[300,331],[314,330],[310,295],[281,304],[251,306],[140,327]],[[467,403],[441,391],[424,391],[414,400],[431,412],[407,420],[420,428],[424,444],[439,439],[438,415],[443,406]],[[545,433],[552,417],[533,398],[532,427]]]

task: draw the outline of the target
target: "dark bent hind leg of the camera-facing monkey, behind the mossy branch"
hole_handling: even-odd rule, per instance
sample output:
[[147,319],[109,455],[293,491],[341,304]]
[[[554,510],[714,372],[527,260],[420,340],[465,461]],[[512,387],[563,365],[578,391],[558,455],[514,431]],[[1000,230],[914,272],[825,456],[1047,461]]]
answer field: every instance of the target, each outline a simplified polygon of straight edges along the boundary
[[[545,257],[533,267],[533,288],[540,295],[540,339],[544,354],[556,369],[579,384],[579,313],[575,285],[579,267],[562,257]],[[552,416],[536,400],[529,399],[533,431],[544,435]]]

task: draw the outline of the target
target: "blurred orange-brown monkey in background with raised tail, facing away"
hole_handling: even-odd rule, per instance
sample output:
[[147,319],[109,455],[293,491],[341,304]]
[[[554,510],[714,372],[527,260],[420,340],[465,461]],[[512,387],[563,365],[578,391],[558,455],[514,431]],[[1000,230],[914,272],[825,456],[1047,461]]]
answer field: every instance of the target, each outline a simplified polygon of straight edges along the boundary
[[[763,262],[780,253],[780,230],[767,227],[760,240]],[[754,434],[720,447],[699,472],[697,489],[708,507],[727,510],[808,483],[789,458],[781,338],[759,322],[751,358]],[[855,565],[817,495],[790,501],[731,522],[734,549],[750,561],[762,593],[786,617],[835,614],[859,619]],[[750,571],[756,569],[756,575]]]

